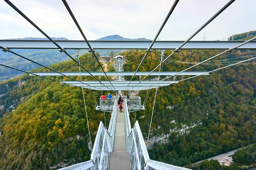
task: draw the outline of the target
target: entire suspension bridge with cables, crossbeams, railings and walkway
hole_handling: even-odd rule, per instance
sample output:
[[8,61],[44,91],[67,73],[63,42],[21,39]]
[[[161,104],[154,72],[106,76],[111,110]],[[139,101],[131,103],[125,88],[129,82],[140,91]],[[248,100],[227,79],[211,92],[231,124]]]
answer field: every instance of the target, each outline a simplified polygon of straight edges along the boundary
[[[147,143],[145,142],[145,136],[143,137],[140,130],[138,121],[135,122],[134,127],[131,127],[129,113],[132,111],[140,111],[145,109],[146,100],[148,94],[145,98],[143,104],[141,104],[141,98],[139,96],[140,90],[150,90],[152,88],[156,89],[152,117],[154,114],[154,106],[157,95],[157,90],[162,86],[169,86],[172,83],[179,83],[180,81],[185,81],[193,77],[209,75],[209,73],[224,69],[227,67],[234,66],[236,64],[241,64],[251,60],[255,60],[256,57],[252,57],[248,60],[243,60],[237,63],[230,64],[228,66],[218,68],[215,70],[210,70],[206,72],[191,72],[187,71],[196,67],[200,64],[203,64],[209,60],[212,60],[220,55],[225,53],[232,53],[235,49],[256,49],[256,42],[253,41],[256,39],[252,38],[248,41],[190,41],[195,35],[197,35],[203,28],[205,28],[211,21],[213,21],[220,13],[222,13],[226,8],[228,8],[235,0],[230,0],[226,5],[224,5],[215,15],[213,15],[207,22],[204,23],[194,34],[192,34],[186,41],[156,41],[161,30],[164,28],[166,22],[174,11],[175,7],[178,5],[179,0],[175,0],[173,6],[171,7],[169,13],[167,14],[164,22],[160,26],[158,33],[155,35],[153,41],[88,41],[83,33],[83,30],[79,26],[78,21],[73,15],[68,3],[66,0],[62,0],[64,6],[66,7],[71,18],[75,22],[79,32],[84,38],[84,41],[54,41],[47,35],[41,28],[39,28],[31,19],[29,19],[23,12],[20,11],[14,4],[9,0],[4,0],[9,6],[11,6],[16,12],[18,12],[24,19],[31,23],[39,32],[41,32],[49,40],[0,40],[0,48],[3,52],[9,52],[23,59],[31,61],[40,65],[41,67],[49,69],[51,72],[27,72],[4,64],[0,66],[19,70],[24,73],[28,73],[31,76],[38,76],[45,79],[50,79],[52,81],[57,81],[64,84],[69,84],[70,86],[75,86],[90,90],[112,90],[116,94],[112,98],[101,98],[99,104],[95,103],[95,109],[111,113],[111,119],[109,122],[109,127],[105,127],[102,122],[98,127],[97,135],[95,141],[91,141],[90,130],[90,143],[88,144],[91,149],[91,158],[87,162],[78,163],[71,165],[62,170],[179,170],[186,168],[165,164],[162,162],[154,161],[149,158],[147,152]],[[28,59],[25,56],[13,52],[11,49],[57,49],[59,52],[65,53],[70,57],[76,64],[79,66],[79,72],[58,72],[52,68],[44,66],[36,61]],[[66,49],[75,49],[77,50],[76,59],[74,59]],[[99,66],[102,69],[102,72],[89,72],[84,66],[79,62],[79,49],[87,49],[97,60]],[[98,60],[98,57],[95,54],[96,49],[145,49],[145,55],[141,60],[139,66],[136,68],[135,72],[123,72],[123,61],[122,56],[116,58],[115,68],[116,72],[105,72],[103,67]],[[143,61],[152,50],[158,49],[161,51],[161,60],[157,67],[155,67],[151,72],[139,72]],[[172,49],[173,52],[164,59],[164,52],[166,49]],[[215,56],[210,57],[202,62],[195,63],[195,65],[182,70],[180,72],[161,72],[161,66],[175,53],[180,52],[183,49],[220,49],[223,50],[222,53],[219,53]],[[159,72],[156,72],[156,69],[159,69]],[[83,69],[85,72],[81,72]],[[173,76],[187,76],[190,77],[179,80],[179,81],[170,81],[169,79]],[[48,77],[47,77],[48,76]],[[64,76],[68,77],[72,81],[60,81],[49,76]],[[80,76],[80,80],[73,79],[71,76]],[[82,76],[92,76],[95,81],[84,81]],[[101,76],[105,76],[107,80],[101,81]],[[115,76],[116,80],[110,80],[109,76]],[[125,80],[125,76],[132,76],[130,80]],[[139,77],[139,81],[133,81],[133,78]],[[141,77],[143,78],[141,79]],[[157,80],[151,81],[148,80],[149,76],[158,76]],[[160,80],[160,76],[165,76],[165,79]],[[124,94],[124,91],[137,90],[137,96],[129,97],[123,95],[123,112],[120,112],[118,109],[118,94]],[[84,95],[84,93],[83,93]],[[84,97],[84,96],[83,96]],[[96,98],[92,96],[96,101]],[[84,98],[84,107],[87,116],[86,103]],[[151,117],[151,122],[152,122]],[[151,122],[149,125],[149,133],[147,139],[150,136]],[[87,124],[89,129],[88,117]],[[93,147],[92,147],[93,143]]]

